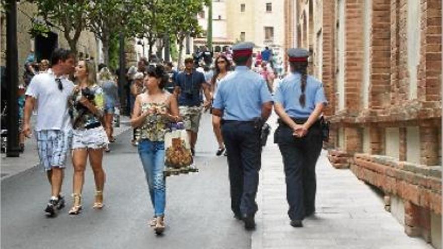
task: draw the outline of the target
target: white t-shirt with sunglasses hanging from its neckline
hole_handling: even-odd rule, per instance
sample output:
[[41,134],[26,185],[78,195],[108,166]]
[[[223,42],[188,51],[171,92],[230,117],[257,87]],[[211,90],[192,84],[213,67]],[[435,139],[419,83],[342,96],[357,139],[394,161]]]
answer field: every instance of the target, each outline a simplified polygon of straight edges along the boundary
[[35,75],[26,90],[26,95],[37,101],[38,113],[36,131],[70,130],[72,125],[68,112],[68,99],[74,84],[66,77],[59,77],[63,90],[58,89],[52,71]]

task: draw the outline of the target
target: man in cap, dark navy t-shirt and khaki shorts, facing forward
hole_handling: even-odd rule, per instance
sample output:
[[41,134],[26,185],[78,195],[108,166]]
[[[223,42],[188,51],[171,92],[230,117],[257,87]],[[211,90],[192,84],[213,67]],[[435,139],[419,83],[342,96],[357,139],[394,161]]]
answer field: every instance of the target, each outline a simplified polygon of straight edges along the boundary
[[203,107],[209,106],[211,99],[210,86],[206,83],[204,75],[194,69],[194,59],[185,59],[185,70],[180,72],[176,78],[174,94],[178,96],[180,115],[183,117],[185,129],[188,132],[192,155],[195,154],[198,126],[200,124],[203,96]]

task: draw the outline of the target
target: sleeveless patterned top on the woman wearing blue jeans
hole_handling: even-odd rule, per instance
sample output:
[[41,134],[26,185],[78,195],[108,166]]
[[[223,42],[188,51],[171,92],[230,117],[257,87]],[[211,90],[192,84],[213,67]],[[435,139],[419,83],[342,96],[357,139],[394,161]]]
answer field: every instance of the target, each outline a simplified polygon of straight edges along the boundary
[[167,102],[162,103],[141,103],[141,113],[150,110],[142,125],[138,128],[138,140],[148,139],[152,142],[162,142],[168,131],[170,121],[160,113],[168,110]]

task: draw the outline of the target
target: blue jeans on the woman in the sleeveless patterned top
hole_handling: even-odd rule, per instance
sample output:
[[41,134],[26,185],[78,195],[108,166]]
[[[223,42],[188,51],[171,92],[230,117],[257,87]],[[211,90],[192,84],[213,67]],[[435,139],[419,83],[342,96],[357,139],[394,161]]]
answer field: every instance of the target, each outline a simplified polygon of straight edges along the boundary
[[156,217],[163,216],[166,205],[166,185],[163,170],[165,168],[165,143],[143,139],[138,142],[138,155],[143,164],[151,203]]

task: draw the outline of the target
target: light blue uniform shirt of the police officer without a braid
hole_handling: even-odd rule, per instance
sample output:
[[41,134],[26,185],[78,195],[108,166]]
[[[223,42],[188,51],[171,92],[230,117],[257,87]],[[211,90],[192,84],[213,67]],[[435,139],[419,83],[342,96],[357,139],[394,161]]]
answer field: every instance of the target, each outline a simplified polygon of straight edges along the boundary
[[261,116],[266,102],[272,102],[272,96],[264,79],[247,66],[236,66],[220,81],[212,107],[224,112],[224,120],[251,121]]

